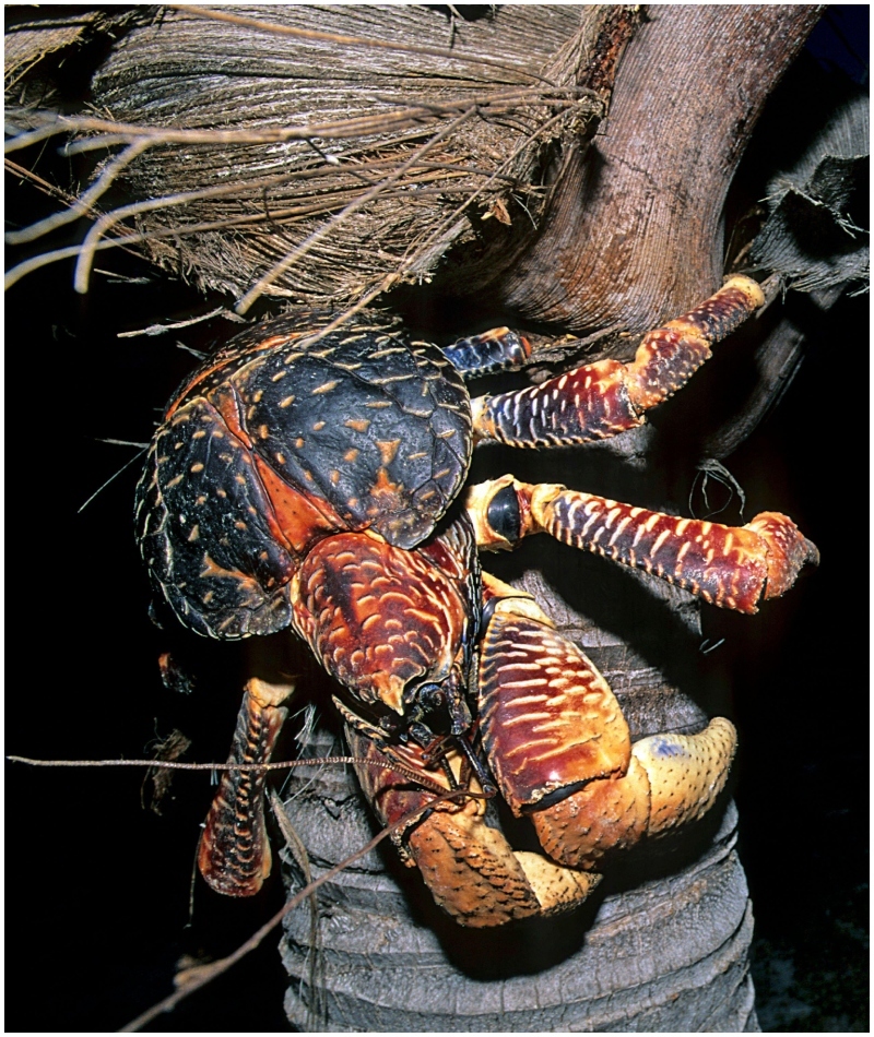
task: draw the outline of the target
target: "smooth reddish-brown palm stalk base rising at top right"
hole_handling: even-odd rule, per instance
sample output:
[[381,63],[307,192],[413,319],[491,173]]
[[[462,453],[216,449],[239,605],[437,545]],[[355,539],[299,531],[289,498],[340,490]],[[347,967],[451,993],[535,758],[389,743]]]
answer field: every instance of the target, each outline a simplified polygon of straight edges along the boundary
[[605,132],[568,154],[539,239],[494,285],[501,299],[578,332],[645,332],[706,298],[734,170],[819,11],[652,5]]

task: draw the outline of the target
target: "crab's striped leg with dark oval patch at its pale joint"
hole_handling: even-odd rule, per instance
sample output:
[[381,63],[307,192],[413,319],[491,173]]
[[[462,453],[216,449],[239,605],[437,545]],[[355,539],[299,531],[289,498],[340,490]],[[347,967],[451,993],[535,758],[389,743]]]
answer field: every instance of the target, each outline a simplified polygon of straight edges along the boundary
[[480,547],[510,549],[524,536],[548,533],[740,612],[756,612],[759,601],[788,591],[805,564],[819,562],[816,547],[777,512],[724,526],[512,476],[472,487],[466,506]]

